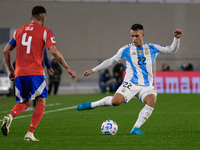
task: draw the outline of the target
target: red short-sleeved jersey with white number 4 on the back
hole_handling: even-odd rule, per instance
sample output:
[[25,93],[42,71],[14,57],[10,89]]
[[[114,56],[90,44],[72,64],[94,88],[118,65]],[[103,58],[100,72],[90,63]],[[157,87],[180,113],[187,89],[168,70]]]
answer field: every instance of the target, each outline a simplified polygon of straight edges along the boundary
[[52,32],[40,24],[30,23],[18,28],[12,35],[16,42],[17,58],[15,78],[18,76],[44,75],[43,51],[56,45]]

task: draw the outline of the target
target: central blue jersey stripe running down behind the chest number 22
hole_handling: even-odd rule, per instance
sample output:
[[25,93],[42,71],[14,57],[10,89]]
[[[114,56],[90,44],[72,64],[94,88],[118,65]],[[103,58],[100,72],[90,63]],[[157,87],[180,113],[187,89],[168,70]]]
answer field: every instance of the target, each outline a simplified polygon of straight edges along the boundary
[[[139,51],[142,51],[139,52]],[[143,47],[137,47],[137,57],[138,57],[138,65],[140,67],[140,69],[142,70],[142,75],[143,75],[143,79],[144,79],[144,84],[149,86],[150,82],[149,82],[149,75],[147,72],[147,67],[146,67],[146,57],[144,57],[144,50]]]

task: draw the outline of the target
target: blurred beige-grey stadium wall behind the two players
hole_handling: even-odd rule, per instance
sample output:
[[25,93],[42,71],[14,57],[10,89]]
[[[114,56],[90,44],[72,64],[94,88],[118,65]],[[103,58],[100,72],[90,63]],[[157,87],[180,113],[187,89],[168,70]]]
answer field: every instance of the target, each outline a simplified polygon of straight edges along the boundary
[[[134,23],[144,25],[145,41],[164,45],[171,44],[175,28],[184,31],[178,53],[159,55],[155,70],[161,70],[163,63],[177,71],[192,63],[195,71],[200,70],[200,0],[1,0],[0,60],[13,31],[30,22],[35,5],[47,9],[45,26],[52,30],[58,49],[77,73],[72,81],[63,72],[59,93],[99,92],[99,74],[85,79],[83,72],[131,43]],[[12,54],[14,61],[15,52]],[[48,56],[51,59],[50,53]]]

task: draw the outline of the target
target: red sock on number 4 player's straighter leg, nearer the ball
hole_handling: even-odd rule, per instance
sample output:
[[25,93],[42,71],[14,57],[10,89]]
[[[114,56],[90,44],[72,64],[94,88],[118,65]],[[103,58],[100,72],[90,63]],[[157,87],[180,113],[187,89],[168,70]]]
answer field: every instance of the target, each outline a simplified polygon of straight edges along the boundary
[[33,133],[35,131],[36,127],[38,126],[38,124],[40,123],[42,116],[43,116],[43,113],[44,113],[44,108],[45,108],[45,105],[36,104],[35,110],[34,110],[33,115],[32,115],[31,124],[30,124],[30,127],[29,127],[30,132]]

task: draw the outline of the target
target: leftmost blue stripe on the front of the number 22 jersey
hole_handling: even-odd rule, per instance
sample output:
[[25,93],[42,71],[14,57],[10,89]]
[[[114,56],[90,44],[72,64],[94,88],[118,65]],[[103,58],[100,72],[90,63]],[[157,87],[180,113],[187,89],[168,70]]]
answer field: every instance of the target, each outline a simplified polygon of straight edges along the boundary
[[135,66],[133,65],[133,62],[131,60],[131,54],[130,54],[130,47],[127,47],[126,49],[124,49],[124,51],[122,52],[121,58],[126,58],[126,61],[128,61],[133,69],[133,77],[131,79],[132,83],[138,84],[138,76],[137,76],[137,70],[135,68]]

